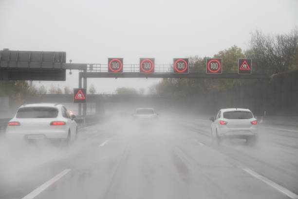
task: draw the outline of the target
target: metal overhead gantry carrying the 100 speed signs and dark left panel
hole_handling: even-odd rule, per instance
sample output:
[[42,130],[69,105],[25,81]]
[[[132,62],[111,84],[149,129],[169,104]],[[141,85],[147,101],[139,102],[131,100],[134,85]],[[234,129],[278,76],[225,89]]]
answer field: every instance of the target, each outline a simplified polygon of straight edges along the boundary
[[[112,58],[109,58],[108,60],[111,59]],[[193,63],[188,63],[188,59],[173,59],[173,64],[155,64],[154,58],[141,58],[140,63],[138,64],[123,64],[122,58],[112,60],[116,60],[120,63],[120,72],[117,72],[119,70],[113,70],[111,68],[111,62],[108,64],[72,63],[70,60],[70,63],[66,63],[65,52],[10,51],[9,49],[3,49],[0,51],[0,80],[66,80],[67,69],[79,70],[78,87],[85,89],[87,89],[87,78],[270,78],[268,74],[252,73],[251,69],[249,74],[239,73],[239,69],[241,68],[238,68],[238,70],[235,69],[233,72],[225,72],[222,67],[222,59],[220,58],[206,59],[206,68],[199,67]],[[152,72],[150,72],[151,70],[146,71],[144,69],[142,66],[144,60],[153,64],[152,67],[154,70],[152,70]],[[186,63],[187,71],[179,71],[177,65],[174,66],[174,64],[176,64],[175,60],[184,61]],[[244,60],[245,62],[243,63],[245,64],[251,61],[251,59]],[[209,65],[209,63],[211,64]],[[220,68],[212,71],[212,67],[217,63]],[[221,70],[219,71],[219,69]],[[245,68],[245,70],[247,69],[248,67]],[[85,116],[87,108],[86,103],[83,103],[83,105],[79,103],[78,106],[79,115]]]

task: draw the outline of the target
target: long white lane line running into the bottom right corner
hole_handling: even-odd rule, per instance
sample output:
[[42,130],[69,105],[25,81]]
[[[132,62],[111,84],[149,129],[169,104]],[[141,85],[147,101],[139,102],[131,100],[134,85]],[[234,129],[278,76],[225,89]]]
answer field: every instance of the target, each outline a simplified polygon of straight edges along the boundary
[[247,173],[249,173],[250,175],[252,175],[253,177],[260,179],[261,181],[265,182],[266,184],[272,186],[273,188],[277,189],[279,192],[285,194],[286,196],[290,197],[291,199],[298,199],[298,195],[291,192],[290,190],[280,186],[279,184],[275,183],[274,181],[267,179],[263,176],[261,176],[260,174],[258,174],[257,172],[254,172],[253,170],[249,169],[249,168],[242,168],[244,171],[246,171]]

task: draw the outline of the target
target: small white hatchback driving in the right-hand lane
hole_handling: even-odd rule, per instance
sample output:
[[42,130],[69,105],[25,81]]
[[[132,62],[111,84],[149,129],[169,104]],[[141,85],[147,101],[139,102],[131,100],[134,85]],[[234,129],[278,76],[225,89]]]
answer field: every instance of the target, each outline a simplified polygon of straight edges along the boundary
[[258,121],[249,109],[221,109],[215,118],[212,117],[210,120],[211,137],[217,141],[236,138],[254,143],[258,138]]

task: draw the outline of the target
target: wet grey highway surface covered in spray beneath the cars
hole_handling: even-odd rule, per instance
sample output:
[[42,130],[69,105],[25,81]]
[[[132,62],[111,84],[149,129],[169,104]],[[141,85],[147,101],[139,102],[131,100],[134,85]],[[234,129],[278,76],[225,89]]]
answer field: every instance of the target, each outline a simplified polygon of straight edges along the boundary
[[81,129],[69,148],[1,142],[0,199],[298,198],[295,127],[217,145],[205,119],[121,120]]

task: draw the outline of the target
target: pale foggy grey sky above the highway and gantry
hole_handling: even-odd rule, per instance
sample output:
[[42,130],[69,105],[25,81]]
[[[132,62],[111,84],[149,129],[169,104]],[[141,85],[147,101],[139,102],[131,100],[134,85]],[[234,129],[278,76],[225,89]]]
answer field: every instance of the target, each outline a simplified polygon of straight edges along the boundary
[[[298,25],[297,0],[0,0],[0,49],[65,51],[75,63],[171,63],[245,49],[250,32],[288,33]],[[77,72],[66,82],[78,86]],[[88,79],[99,92],[147,88],[158,79]]]

